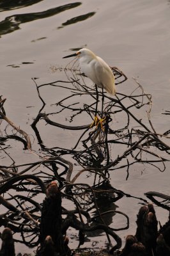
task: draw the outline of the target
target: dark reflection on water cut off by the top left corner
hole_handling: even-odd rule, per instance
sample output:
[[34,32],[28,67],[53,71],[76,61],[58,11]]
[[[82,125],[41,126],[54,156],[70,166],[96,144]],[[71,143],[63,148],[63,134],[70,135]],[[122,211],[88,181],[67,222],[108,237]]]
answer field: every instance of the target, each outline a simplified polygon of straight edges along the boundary
[[42,0],[1,0],[0,12],[30,6],[41,1]]

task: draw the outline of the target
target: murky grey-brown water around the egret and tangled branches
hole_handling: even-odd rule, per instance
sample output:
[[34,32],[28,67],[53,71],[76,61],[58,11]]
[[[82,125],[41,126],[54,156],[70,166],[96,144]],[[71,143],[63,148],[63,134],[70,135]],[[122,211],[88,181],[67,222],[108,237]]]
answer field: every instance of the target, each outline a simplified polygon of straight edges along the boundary
[[[169,66],[170,66],[170,4],[169,1],[28,1],[27,6],[0,4],[0,56],[1,95],[6,97],[6,115],[32,134],[33,122],[42,104],[37,97],[31,77],[40,77],[38,83],[66,80],[64,72],[52,72],[54,67],[65,67],[62,57],[70,49],[86,45],[111,66],[120,67],[128,81],[117,87],[118,92],[131,93],[136,77],[144,91],[151,93],[153,108],[151,121],[158,133],[169,129],[169,115],[162,115],[169,109]],[[11,1],[12,2],[12,1]],[[19,8],[18,8],[19,6]],[[52,68],[53,67],[53,68]],[[43,88],[42,95],[50,104],[58,102],[65,95],[59,88]],[[28,108],[29,107],[29,108]],[[137,111],[137,109],[135,110]],[[146,116],[146,113],[143,113]],[[59,115],[65,122],[65,116]],[[77,124],[81,120],[77,120]],[[86,120],[84,120],[86,124]],[[133,125],[133,124],[132,124]],[[135,124],[134,124],[135,125]],[[45,144],[70,148],[77,139],[77,132],[66,133],[53,127],[40,128]],[[36,139],[33,149],[38,150]],[[54,141],[56,138],[56,141]],[[169,141],[166,141],[169,144]],[[36,161],[36,156],[23,152],[20,144],[13,142],[10,150],[17,163]],[[167,156],[166,156],[167,157]],[[10,164],[8,157],[1,164]],[[125,170],[111,173],[111,184],[117,189],[144,198],[146,191],[169,194],[169,164],[164,173],[144,164],[130,169],[126,180]],[[134,234],[135,218],[139,201],[122,198],[118,201],[121,211],[130,216],[130,229],[119,232],[123,238]],[[167,211],[156,208],[158,220],[167,220]],[[120,220],[121,221],[121,220]],[[117,223],[117,222],[116,222]],[[113,223],[112,225],[118,225]],[[69,236],[69,234],[68,234]],[[92,241],[102,241],[102,237]],[[104,241],[102,241],[104,242]],[[74,246],[73,242],[73,246]],[[17,245],[18,251],[26,250]]]

